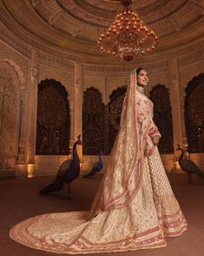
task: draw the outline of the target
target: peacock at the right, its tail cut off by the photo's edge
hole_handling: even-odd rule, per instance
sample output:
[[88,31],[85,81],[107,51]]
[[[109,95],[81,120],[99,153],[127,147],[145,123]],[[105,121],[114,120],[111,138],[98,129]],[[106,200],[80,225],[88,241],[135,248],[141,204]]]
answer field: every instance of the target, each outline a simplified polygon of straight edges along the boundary
[[184,151],[181,148],[181,145],[177,145],[176,151],[181,151],[181,155],[179,157],[179,165],[181,167],[181,170],[188,173],[188,183],[192,183],[192,174],[195,174],[201,179],[204,179],[204,172],[202,172],[192,160],[183,159]]

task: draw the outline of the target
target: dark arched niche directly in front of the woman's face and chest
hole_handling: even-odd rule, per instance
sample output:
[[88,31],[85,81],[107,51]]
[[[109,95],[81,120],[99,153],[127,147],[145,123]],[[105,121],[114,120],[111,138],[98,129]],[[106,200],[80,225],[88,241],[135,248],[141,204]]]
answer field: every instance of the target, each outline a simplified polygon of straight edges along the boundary
[[173,153],[173,124],[168,88],[163,84],[156,85],[150,92],[150,99],[154,104],[154,122],[161,132],[159,151],[164,154]]

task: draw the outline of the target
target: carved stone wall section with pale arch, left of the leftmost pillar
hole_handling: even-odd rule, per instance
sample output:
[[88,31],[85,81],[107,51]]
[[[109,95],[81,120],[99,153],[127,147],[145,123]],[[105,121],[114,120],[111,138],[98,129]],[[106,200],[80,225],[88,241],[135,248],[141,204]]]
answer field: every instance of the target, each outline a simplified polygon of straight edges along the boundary
[[15,175],[24,154],[29,64],[28,57],[0,41],[0,177]]

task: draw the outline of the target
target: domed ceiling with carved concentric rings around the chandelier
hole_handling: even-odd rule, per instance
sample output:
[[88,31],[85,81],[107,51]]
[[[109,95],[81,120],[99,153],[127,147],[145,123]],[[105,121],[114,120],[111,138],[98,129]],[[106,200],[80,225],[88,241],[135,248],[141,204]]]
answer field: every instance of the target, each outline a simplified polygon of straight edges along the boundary
[[[88,64],[121,64],[97,39],[122,10],[120,0],[1,0],[1,21],[42,51]],[[168,56],[203,41],[204,1],[133,0],[131,9],[155,30],[160,44],[144,60]],[[139,57],[141,59],[141,57]],[[136,61],[136,60],[135,60]]]

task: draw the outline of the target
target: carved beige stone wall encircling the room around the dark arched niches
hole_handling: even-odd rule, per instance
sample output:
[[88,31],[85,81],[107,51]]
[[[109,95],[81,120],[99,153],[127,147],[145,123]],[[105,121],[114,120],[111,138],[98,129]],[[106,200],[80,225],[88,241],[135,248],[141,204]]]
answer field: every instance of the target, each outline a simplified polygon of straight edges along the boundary
[[[5,175],[5,169],[8,168],[8,173],[11,171],[14,173],[16,168],[16,175],[24,175],[27,173],[26,166],[28,165],[33,167],[33,170],[35,169],[36,175],[55,174],[60,163],[70,156],[35,155],[37,84],[46,78],[53,78],[63,84],[68,91],[71,115],[70,148],[72,148],[76,136],[82,134],[83,91],[91,86],[95,87],[102,93],[103,103],[108,104],[112,91],[122,85],[129,84],[129,74],[134,66],[123,64],[117,67],[102,67],[76,64],[31,47],[23,47],[23,51],[21,51],[21,47],[15,47],[13,44],[3,42],[3,40],[0,41],[0,46],[0,64],[6,64],[10,67],[10,72],[13,72],[13,77],[16,76],[14,79],[16,81],[16,115],[20,115],[22,108],[21,120],[16,118],[15,125],[12,125],[14,131],[10,131],[13,134],[13,137],[11,136],[12,151],[10,151],[10,146],[7,143],[7,135],[3,133],[1,138],[1,141],[7,146],[1,148],[0,152],[1,161],[4,163],[0,166],[0,176],[1,173]],[[23,53],[25,48],[27,49],[26,54]],[[156,84],[165,84],[169,89],[173,114],[174,145],[187,145],[183,116],[185,88],[194,76],[203,72],[203,64],[204,49],[190,51],[188,54],[174,58],[167,57],[154,63],[142,63],[141,58],[138,61],[138,66],[144,66],[148,69],[147,94]],[[88,172],[97,157],[82,156],[82,148],[79,149],[79,152],[82,173]],[[192,159],[202,167],[204,158],[201,156],[201,154],[192,155]],[[161,158],[167,172],[173,172],[174,161],[176,162],[178,157],[169,154],[162,155]],[[105,166],[108,161],[109,157],[104,157]],[[19,166],[23,168],[23,171],[19,171],[21,170]]]

